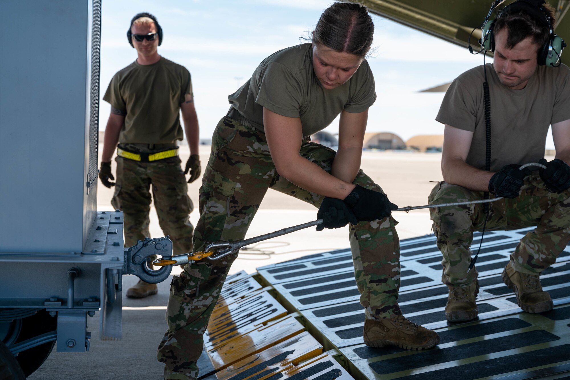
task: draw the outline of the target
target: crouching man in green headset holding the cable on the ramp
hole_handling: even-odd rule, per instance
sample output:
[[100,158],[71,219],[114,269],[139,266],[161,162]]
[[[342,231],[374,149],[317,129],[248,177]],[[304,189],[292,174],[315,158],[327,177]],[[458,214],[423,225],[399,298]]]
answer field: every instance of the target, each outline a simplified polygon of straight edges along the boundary
[[[494,62],[455,79],[436,118],[445,124],[445,181],[435,186],[430,203],[479,200],[486,192],[491,199],[504,197],[488,203],[488,215],[483,204],[430,209],[443,254],[442,282],[449,287],[448,321],[477,317],[478,273],[469,270],[470,245],[473,231],[484,229],[536,226],[522,236],[502,279],[524,311],[553,307],[539,275],[570,242],[570,70],[559,63],[565,45],[553,34],[553,11],[543,3],[518,0],[486,23],[483,49],[494,51]],[[488,140],[486,121],[492,126]],[[550,125],[556,158],[548,162],[543,157]],[[492,142],[488,160],[486,141]],[[519,169],[539,160],[546,169]]]

